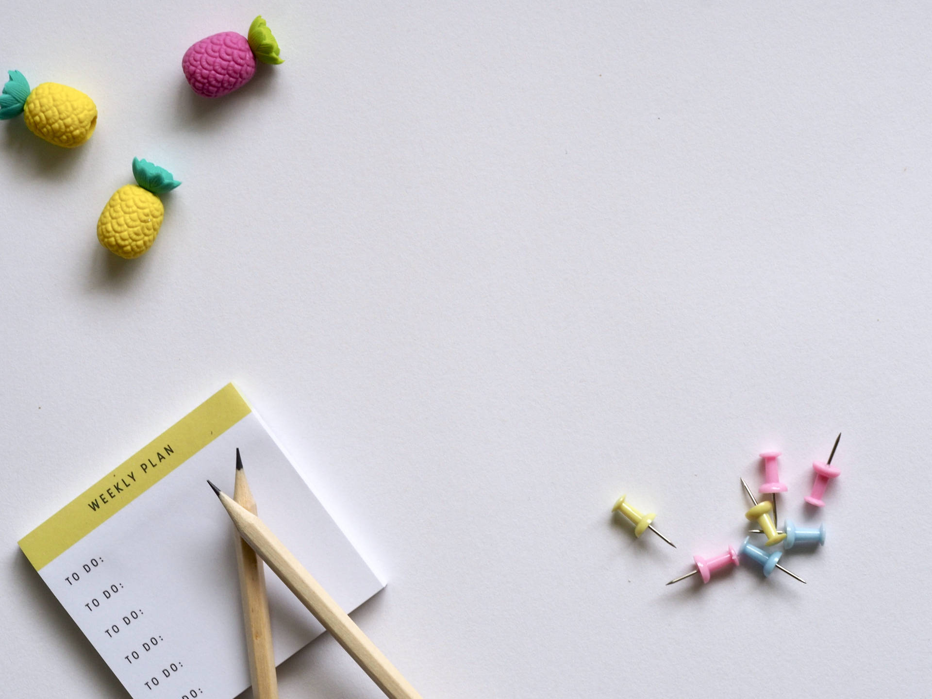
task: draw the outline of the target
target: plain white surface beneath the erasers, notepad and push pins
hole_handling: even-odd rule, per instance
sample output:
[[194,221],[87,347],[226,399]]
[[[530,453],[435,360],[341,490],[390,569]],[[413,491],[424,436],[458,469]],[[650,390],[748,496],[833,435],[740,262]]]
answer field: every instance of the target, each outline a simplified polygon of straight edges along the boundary
[[[287,62],[197,99],[185,48],[256,12]],[[932,7],[4,16],[3,67],[100,110],[76,152],[0,124],[4,692],[123,696],[15,541],[234,378],[425,697],[925,695]],[[184,184],[124,263],[94,225],[133,156]],[[740,541],[761,448],[798,514],[839,431],[808,585],[664,587]],[[326,638],[281,695],[380,694]]]

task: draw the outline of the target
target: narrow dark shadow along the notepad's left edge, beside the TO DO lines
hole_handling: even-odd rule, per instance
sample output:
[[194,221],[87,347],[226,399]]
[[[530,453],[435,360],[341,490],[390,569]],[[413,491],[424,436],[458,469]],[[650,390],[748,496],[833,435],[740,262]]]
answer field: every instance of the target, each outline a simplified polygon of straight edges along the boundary
[[42,624],[48,624],[52,627],[51,635],[58,639],[57,645],[61,649],[57,652],[75,656],[75,665],[87,668],[89,673],[93,673],[100,678],[96,686],[106,688],[105,696],[120,697],[121,699],[127,696],[123,685],[120,684],[117,677],[103,662],[103,658],[98,655],[94,647],[90,645],[90,641],[81,633],[81,629],[68,616],[68,612],[52,595],[48,585],[39,577],[39,574],[19,548],[16,549],[12,558],[11,568],[14,570],[14,577],[17,579],[17,588],[21,590],[22,605],[34,610],[35,616]]

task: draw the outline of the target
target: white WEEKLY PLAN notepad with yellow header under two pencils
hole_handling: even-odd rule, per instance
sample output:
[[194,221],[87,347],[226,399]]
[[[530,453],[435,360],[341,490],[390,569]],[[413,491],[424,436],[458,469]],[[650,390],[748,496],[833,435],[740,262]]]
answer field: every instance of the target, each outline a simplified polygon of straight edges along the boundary
[[[20,541],[134,699],[250,684],[235,529],[207,485],[233,492],[238,447],[259,516],[344,610],[383,587],[230,384]],[[281,663],[323,629],[268,569],[266,583]]]

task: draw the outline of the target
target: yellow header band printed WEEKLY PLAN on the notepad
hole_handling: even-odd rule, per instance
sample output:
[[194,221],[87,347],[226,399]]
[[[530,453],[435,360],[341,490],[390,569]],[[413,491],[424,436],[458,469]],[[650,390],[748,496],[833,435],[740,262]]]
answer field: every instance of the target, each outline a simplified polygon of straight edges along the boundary
[[227,384],[20,540],[43,568],[250,413]]

